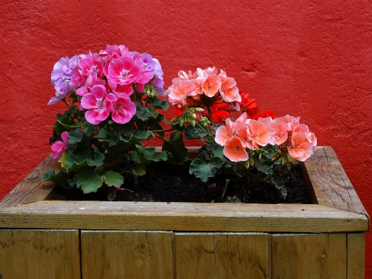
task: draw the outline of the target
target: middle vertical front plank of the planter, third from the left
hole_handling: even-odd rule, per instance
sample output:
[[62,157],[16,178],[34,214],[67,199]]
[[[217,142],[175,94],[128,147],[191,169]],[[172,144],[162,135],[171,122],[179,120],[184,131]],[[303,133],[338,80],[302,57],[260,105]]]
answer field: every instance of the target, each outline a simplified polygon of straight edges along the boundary
[[177,279],[269,278],[269,235],[184,234],[174,236]]

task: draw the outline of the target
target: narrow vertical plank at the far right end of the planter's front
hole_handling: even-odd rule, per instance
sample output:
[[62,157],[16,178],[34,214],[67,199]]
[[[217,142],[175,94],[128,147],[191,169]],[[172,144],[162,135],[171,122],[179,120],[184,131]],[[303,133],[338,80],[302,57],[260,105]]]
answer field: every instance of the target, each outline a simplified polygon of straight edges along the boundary
[[348,234],[348,279],[364,279],[364,233]]

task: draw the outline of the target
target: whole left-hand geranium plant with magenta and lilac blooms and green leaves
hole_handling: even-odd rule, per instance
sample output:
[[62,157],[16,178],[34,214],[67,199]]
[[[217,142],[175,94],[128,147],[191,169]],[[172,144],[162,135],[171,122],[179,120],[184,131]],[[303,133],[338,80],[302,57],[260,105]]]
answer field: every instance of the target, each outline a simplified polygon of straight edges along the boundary
[[[107,45],[98,53],[61,58],[51,79],[56,96],[49,104],[62,101],[68,109],[57,114],[51,138],[52,157],[63,169],[46,171],[43,180],[84,193],[118,189],[127,176],[143,175],[148,162],[165,161],[170,152],[186,155],[181,134],[167,140],[161,127],[164,117],[157,110],[169,104],[158,99],[165,92],[163,71],[151,55]],[[142,145],[155,136],[165,141],[161,153]]]

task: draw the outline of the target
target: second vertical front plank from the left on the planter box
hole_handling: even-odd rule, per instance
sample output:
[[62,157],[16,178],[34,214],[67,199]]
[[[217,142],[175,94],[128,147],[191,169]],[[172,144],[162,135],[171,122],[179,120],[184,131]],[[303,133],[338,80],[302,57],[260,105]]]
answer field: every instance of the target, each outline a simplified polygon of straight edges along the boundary
[[82,231],[82,279],[173,279],[172,232]]

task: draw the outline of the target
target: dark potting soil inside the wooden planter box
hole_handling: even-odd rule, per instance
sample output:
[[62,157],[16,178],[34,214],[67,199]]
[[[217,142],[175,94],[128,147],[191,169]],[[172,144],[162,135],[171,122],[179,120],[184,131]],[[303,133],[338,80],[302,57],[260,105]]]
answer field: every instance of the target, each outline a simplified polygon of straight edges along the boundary
[[[188,173],[188,166],[158,162],[147,166],[145,176],[126,178],[124,189],[115,192],[110,188],[98,189],[97,193],[82,194],[80,189],[65,189],[57,186],[50,196],[53,200],[84,201],[165,201],[165,202],[226,202],[228,197],[242,203],[311,203],[308,187],[299,165],[292,165],[290,171],[280,174],[287,188],[287,197],[281,198],[273,186],[260,183],[255,187],[245,185],[242,178],[221,173],[203,183]],[[228,189],[221,198],[226,179],[230,179]],[[236,199],[237,198],[237,199]]]

